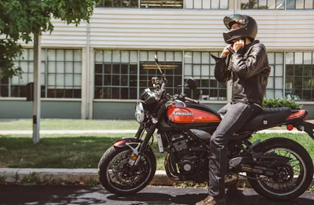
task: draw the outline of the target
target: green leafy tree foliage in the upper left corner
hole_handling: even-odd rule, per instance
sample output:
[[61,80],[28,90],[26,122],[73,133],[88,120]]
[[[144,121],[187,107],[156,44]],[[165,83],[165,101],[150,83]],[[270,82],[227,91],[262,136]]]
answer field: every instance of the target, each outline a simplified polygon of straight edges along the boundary
[[[0,1],[0,75],[21,74],[14,58],[23,54],[18,40],[32,41],[32,34],[53,31],[51,18],[68,24],[89,22],[94,4],[101,0],[6,0]],[[4,37],[4,38],[2,38]]]

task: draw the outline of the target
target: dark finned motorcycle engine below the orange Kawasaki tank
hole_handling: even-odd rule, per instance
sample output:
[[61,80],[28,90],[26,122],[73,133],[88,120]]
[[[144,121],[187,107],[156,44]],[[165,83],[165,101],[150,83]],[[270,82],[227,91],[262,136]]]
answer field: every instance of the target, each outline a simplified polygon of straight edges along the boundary
[[194,155],[191,148],[195,141],[188,134],[180,133],[171,137],[171,151],[176,155],[176,163],[179,171],[185,175],[192,175],[198,162],[198,157]]

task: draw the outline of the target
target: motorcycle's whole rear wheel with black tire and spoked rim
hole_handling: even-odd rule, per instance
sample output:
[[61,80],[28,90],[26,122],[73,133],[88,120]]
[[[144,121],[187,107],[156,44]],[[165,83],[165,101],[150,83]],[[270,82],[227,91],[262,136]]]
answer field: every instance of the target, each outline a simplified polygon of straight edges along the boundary
[[257,181],[248,178],[248,181],[261,196],[276,201],[290,200],[299,197],[311,185],[313,162],[306,149],[299,143],[287,138],[272,138],[260,143],[254,151],[291,159],[277,168],[280,170],[279,177],[247,173],[247,176],[259,179]]

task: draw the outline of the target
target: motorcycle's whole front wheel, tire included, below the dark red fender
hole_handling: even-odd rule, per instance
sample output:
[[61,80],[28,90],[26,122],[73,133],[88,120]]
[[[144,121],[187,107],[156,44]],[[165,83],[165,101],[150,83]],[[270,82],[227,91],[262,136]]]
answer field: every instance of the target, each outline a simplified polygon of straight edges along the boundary
[[101,157],[98,175],[102,186],[116,195],[131,195],[141,191],[152,181],[156,158],[151,149],[144,152],[137,166],[128,164],[133,151],[129,147],[111,146]]

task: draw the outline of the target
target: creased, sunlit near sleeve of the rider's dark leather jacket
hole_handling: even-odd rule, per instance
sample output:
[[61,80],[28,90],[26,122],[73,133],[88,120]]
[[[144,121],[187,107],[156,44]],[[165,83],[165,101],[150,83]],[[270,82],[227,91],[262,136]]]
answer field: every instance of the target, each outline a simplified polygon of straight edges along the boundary
[[266,51],[262,46],[252,48],[246,60],[243,59],[241,52],[237,52],[232,55],[233,71],[239,78],[250,78],[265,69],[265,57]]

